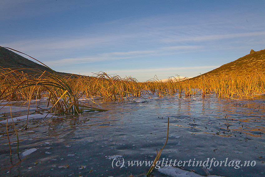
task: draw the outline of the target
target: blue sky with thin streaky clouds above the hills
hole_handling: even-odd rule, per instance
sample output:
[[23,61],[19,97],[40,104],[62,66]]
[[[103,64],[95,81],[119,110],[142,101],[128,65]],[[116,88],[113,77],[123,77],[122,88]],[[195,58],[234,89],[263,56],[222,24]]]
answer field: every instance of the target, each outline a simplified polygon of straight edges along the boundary
[[0,46],[86,76],[193,77],[265,49],[264,0],[1,0],[0,17]]

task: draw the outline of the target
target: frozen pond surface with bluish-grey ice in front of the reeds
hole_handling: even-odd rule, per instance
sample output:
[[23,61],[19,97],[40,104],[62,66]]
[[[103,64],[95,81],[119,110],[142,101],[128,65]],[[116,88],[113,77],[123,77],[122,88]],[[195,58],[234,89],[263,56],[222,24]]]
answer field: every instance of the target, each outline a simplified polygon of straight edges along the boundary
[[[166,141],[168,117],[168,142],[153,176],[265,176],[265,96],[144,97],[148,102],[99,103],[109,111],[62,116],[21,132],[22,162],[12,168],[1,134],[0,176],[145,176]],[[16,136],[10,140],[16,164]]]

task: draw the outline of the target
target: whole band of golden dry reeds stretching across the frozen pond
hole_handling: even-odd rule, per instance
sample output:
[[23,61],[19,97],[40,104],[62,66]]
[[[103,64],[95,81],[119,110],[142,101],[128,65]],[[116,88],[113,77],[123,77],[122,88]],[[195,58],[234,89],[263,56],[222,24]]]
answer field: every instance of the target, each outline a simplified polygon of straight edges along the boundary
[[[33,70],[33,69],[32,69]],[[36,72],[36,70],[35,70]],[[170,79],[162,82],[153,81],[138,82],[135,78],[110,76],[106,73],[96,73],[94,76],[66,75],[39,71],[30,75],[23,73],[21,69],[0,69],[0,102],[31,101],[33,99],[48,98],[49,104],[54,105],[53,111],[60,109],[60,113],[79,114],[85,109],[94,110],[93,107],[83,105],[79,99],[82,97],[100,97],[106,101],[124,101],[129,96],[142,96],[148,92],[162,97],[185,93],[192,96],[200,93],[216,94],[218,97],[231,98],[233,96],[253,96],[264,94],[264,73],[254,71],[250,76],[238,77],[231,75],[218,75],[206,79],[201,76],[200,81],[186,79]],[[58,101],[58,98],[60,100]],[[65,104],[66,103],[66,104]],[[1,109],[1,108],[0,108]]]

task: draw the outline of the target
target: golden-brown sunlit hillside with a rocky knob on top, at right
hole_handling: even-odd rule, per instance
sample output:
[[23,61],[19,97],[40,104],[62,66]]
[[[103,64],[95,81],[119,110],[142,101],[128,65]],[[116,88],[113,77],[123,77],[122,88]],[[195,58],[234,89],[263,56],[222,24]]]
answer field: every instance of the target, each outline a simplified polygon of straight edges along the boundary
[[[241,57],[235,61],[224,64],[219,68],[202,74],[205,78],[218,76],[222,74],[230,74],[234,76],[248,76],[253,71],[265,71],[265,49],[255,52],[251,49],[250,54]],[[193,77],[191,80],[197,80],[200,76]]]

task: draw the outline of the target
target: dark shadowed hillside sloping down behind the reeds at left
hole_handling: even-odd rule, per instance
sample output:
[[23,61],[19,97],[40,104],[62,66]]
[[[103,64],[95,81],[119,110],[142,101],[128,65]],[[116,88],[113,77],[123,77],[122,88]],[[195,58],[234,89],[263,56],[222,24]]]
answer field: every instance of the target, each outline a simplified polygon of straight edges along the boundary
[[[12,52],[6,48],[1,47],[0,48],[0,69],[3,68],[23,68],[22,71],[26,73],[36,73],[37,71],[33,71],[30,69],[24,69],[24,68],[31,68],[31,69],[39,69],[42,71],[49,71],[52,72],[49,68],[46,66],[40,65],[34,61],[31,61],[25,57],[22,57],[21,55],[18,55],[15,52]],[[58,74],[67,74],[62,72],[56,72]]]

